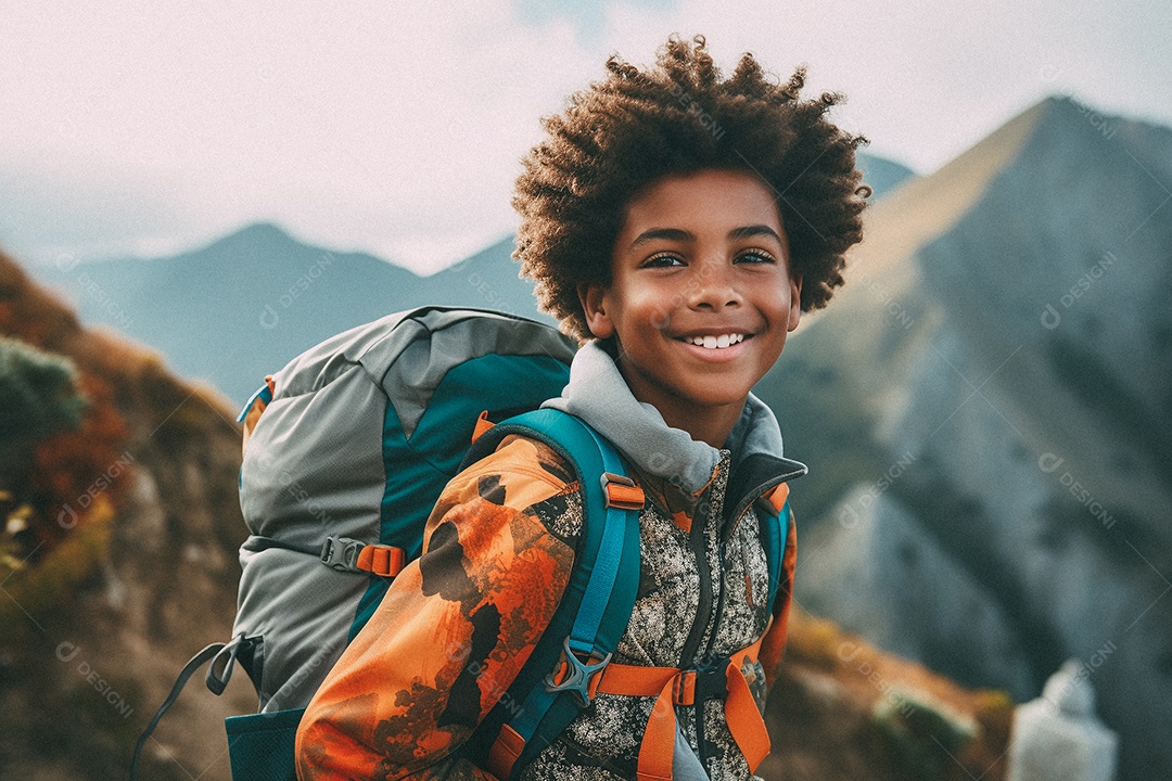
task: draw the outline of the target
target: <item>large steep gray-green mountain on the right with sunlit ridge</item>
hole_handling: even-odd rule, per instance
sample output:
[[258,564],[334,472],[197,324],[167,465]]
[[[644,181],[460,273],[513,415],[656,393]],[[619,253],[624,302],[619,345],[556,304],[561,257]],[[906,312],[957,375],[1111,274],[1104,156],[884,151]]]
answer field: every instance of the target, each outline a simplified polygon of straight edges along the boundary
[[1125,779],[1172,774],[1170,187],[1172,131],[1047,100],[874,204],[758,388],[798,601],[1016,699],[1079,660]]

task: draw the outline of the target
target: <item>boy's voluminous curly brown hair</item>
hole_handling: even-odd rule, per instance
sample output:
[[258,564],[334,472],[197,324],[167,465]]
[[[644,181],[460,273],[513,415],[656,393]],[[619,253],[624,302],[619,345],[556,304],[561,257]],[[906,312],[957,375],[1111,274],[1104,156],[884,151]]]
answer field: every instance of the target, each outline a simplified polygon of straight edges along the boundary
[[543,119],[513,207],[522,217],[513,258],[537,283],[541,309],[578,338],[590,329],[579,282],[611,282],[611,254],[626,206],[663,176],[703,169],[750,171],[776,193],[803,278],[802,310],[826,306],[843,285],[843,253],[863,238],[854,150],[866,144],[829,122],[834,93],[799,100],[805,69],[775,83],[751,54],[727,80],[703,36],[668,39],[649,70],[611,56],[604,81],[575,93],[565,114]]

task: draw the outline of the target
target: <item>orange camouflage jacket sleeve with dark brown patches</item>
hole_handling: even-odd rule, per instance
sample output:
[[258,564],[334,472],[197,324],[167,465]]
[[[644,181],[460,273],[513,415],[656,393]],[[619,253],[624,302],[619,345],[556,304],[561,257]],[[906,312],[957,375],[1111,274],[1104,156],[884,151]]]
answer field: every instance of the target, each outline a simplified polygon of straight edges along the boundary
[[580,528],[575,500],[558,457],[516,437],[448,485],[423,555],[306,710],[301,781],[493,779],[457,749],[506,693],[561,600]]

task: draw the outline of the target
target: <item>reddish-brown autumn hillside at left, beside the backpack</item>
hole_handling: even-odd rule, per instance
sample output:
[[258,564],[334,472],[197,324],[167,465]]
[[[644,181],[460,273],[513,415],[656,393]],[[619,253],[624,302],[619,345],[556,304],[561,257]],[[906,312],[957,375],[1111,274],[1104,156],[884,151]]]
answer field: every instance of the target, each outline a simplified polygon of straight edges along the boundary
[[[239,432],[217,392],[81,328],[2,255],[0,337],[68,366],[84,398],[80,430],[0,437],[14,454],[0,467],[0,775],[124,777],[183,662],[231,628]],[[222,760],[222,719],[253,705],[246,681],[180,700],[145,777],[199,776]]]

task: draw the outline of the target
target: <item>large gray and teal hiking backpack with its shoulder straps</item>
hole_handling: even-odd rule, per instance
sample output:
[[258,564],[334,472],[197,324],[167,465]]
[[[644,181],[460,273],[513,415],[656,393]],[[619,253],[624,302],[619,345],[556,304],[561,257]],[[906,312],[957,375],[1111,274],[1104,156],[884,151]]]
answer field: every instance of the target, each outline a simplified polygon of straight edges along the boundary
[[[608,441],[573,416],[538,409],[568,382],[574,350],[534,321],[424,307],[339,334],[266,377],[239,417],[251,534],[240,548],[233,639],[184,667],[139,738],[131,777],[188,678],[211,662],[205,681],[219,694],[239,662],[259,707],[226,720],[232,775],[295,779],[295,733],[309,699],[390,580],[420,556],[447,482],[512,433],[544,441],[572,466],[584,523],[550,626],[468,751],[478,765],[504,768],[504,779],[558,735],[590,704],[595,673],[626,629],[643,505]],[[771,598],[788,519],[775,511],[763,523]]]

